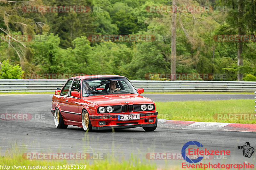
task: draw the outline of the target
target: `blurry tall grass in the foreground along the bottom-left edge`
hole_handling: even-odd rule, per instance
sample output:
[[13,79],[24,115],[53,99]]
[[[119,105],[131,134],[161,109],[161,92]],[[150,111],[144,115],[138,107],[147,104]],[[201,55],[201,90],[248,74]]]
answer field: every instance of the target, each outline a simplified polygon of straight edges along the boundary
[[[125,169],[125,170],[156,170],[155,163],[147,163],[143,159],[138,159],[131,155],[128,160],[118,160],[112,155],[109,159],[94,159],[90,160],[90,157],[83,160],[45,160],[44,157],[40,159],[26,159],[26,156],[21,154],[25,151],[25,147],[20,149],[15,147],[15,150],[9,149],[5,153],[5,156],[0,156],[1,169],[88,169],[88,170],[113,170],[113,169]],[[1,151],[1,150],[0,150]],[[36,158],[39,158],[35,156]],[[33,157],[34,158],[34,157]],[[49,158],[49,157],[48,157]]]

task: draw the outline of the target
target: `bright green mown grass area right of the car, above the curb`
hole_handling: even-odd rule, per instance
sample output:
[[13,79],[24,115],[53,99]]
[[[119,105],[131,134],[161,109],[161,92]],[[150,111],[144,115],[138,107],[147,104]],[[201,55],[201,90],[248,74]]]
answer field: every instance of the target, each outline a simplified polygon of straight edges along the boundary
[[[254,101],[250,99],[239,100],[212,100],[212,101],[174,101],[155,102],[159,119],[196,121],[196,122],[229,122],[255,124]],[[241,115],[234,117],[230,115],[227,120],[225,116],[217,114],[244,114],[250,115],[245,120],[240,120]],[[254,115],[252,117],[252,115]],[[227,118],[227,117],[226,117]],[[233,120],[232,120],[233,119]],[[248,120],[249,119],[249,120]]]

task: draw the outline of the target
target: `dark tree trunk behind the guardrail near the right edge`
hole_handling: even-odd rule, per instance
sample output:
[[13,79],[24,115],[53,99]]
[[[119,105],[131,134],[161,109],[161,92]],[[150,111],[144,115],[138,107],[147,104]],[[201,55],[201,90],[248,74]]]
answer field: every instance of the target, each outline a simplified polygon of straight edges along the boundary
[[[239,0],[239,5],[238,5],[238,35],[243,35],[243,12],[244,12],[244,4],[243,0]],[[237,49],[237,66],[242,66],[243,65],[243,42],[238,42],[238,49]],[[239,68],[238,68],[239,69]],[[237,70],[237,80],[242,81],[243,79],[243,73],[240,73],[239,70]]]

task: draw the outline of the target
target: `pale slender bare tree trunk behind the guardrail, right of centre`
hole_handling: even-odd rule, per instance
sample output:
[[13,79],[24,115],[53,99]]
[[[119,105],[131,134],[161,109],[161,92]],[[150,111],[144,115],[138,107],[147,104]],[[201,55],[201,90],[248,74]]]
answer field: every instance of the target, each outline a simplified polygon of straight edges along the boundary
[[[176,74],[176,16],[177,16],[177,9],[176,9],[176,0],[172,1],[172,6],[175,10],[172,13],[172,51],[171,51],[171,73]],[[176,80],[174,76],[174,80]]]

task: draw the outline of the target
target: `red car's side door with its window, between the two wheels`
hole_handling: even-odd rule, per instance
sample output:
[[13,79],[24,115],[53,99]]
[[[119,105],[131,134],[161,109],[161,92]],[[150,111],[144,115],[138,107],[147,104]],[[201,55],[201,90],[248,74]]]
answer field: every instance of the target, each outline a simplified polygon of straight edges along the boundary
[[[74,79],[72,85],[70,86],[70,92],[66,98],[66,118],[71,121],[79,121],[78,107],[80,102],[80,97],[71,96],[71,92],[80,93],[80,82],[79,79]],[[81,113],[80,113],[81,114]]]

